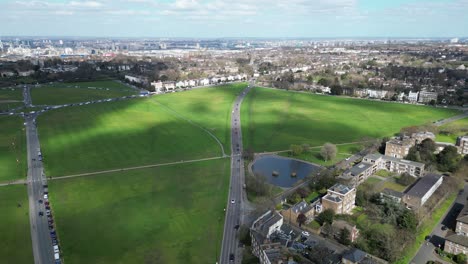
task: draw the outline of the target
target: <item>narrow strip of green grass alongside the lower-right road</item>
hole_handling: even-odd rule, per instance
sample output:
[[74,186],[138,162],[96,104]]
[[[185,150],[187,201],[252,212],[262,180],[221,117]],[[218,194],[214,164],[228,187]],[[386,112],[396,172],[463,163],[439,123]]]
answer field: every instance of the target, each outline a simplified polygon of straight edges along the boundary
[[410,263],[411,259],[416,255],[422,243],[424,243],[424,238],[431,234],[434,227],[440,221],[445,212],[448,211],[450,205],[457,198],[456,194],[451,194],[440,206],[437,208],[431,215],[430,218],[424,220],[420,225],[419,230],[416,235],[415,241],[405,248],[405,255],[399,259],[397,264],[407,264]]

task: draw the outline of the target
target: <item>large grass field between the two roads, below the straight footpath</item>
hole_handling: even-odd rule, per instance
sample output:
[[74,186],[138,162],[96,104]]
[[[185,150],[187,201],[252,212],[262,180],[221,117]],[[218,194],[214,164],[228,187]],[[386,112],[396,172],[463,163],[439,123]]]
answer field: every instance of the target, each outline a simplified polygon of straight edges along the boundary
[[65,263],[215,263],[229,159],[49,182]]

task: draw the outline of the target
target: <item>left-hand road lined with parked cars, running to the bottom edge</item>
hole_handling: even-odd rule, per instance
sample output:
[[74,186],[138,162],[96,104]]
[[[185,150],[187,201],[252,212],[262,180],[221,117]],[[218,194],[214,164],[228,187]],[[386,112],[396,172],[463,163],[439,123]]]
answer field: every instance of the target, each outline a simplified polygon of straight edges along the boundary
[[[46,180],[43,177],[42,162],[39,161],[38,156],[40,146],[35,116],[26,117],[25,123],[28,150],[29,220],[34,263],[49,264],[54,263],[54,255],[44,204],[39,203],[39,200],[43,200],[43,184],[46,184]],[[44,216],[39,216],[39,212],[43,212]]]

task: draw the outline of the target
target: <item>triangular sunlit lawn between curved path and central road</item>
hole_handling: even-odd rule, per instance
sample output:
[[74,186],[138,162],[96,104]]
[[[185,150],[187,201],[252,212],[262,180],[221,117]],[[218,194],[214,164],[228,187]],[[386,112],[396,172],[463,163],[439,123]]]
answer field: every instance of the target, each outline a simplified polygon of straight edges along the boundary
[[234,99],[247,87],[246,83],[223,85],[216,88],[204,88],[171,93],[153,97],[182,116],[208,129],[230,153],[230,122]]

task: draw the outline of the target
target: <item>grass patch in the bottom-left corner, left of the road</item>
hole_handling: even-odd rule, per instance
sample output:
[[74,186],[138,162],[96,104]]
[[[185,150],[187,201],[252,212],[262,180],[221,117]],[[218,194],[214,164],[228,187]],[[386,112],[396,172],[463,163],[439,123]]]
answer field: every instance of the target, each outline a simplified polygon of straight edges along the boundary
[[24,185],[0,187],[0,263],[34,262]]

